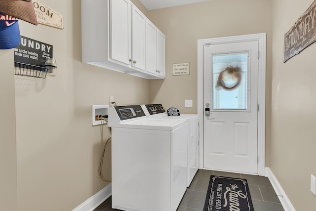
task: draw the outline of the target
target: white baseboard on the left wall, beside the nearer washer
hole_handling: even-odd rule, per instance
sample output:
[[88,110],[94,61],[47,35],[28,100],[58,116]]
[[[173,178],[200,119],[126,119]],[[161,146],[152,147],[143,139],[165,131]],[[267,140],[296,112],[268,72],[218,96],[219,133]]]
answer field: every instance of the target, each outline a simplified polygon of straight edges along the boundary
[[107,200],[112,194],[112,183],[107,185],[105,188],[100,190],[98,193],[91,196],[73,211],[93,211],[96,209],[102,202]]

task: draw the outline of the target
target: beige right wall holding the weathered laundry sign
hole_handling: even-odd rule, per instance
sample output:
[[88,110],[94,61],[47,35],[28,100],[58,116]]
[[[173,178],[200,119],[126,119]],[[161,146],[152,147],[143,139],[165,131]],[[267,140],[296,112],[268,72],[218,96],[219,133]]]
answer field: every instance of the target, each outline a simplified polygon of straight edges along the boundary
[[271,165],[296,211],[312,211],[316,176],[316,43],[283,63],[283,36],[313,3],[273,0]]

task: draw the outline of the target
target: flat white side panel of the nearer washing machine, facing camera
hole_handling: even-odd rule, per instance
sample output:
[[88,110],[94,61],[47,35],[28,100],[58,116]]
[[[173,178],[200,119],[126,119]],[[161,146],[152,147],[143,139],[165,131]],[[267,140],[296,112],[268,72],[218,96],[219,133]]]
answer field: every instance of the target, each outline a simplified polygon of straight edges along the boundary
[[113,209],[170,211],[172,148],[171,131],[112,128]]

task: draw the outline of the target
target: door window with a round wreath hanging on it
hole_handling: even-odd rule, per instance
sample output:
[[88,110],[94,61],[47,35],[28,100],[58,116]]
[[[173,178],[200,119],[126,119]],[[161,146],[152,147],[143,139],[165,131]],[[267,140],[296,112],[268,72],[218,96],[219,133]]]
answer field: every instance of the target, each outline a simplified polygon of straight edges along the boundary
[[212,110],[249,111],[249,52],[212,54]]

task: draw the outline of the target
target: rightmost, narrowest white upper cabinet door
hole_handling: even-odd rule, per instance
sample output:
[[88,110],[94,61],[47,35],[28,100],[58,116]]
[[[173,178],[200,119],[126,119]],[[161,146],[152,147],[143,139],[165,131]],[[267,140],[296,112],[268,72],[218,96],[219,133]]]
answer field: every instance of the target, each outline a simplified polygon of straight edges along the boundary
[[166,37],[157,29],[157,74],[165,77]]

